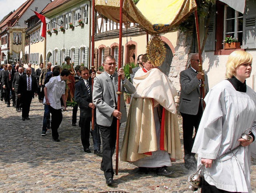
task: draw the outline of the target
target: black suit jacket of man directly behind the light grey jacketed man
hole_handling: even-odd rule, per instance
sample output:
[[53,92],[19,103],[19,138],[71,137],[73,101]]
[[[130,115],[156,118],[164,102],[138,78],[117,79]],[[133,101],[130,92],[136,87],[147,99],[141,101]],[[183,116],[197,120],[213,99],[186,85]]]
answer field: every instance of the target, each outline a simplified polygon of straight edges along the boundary
[[75,101],[79,104],[81,117],[92,116],[92,108],[89,107],[89,103],[92,102],[91,79],[89,79],[89,85],[90,85],[90,96],[88,95],[88,90],[84,83],[84,79],[81,79],[78,83],[75,84]]

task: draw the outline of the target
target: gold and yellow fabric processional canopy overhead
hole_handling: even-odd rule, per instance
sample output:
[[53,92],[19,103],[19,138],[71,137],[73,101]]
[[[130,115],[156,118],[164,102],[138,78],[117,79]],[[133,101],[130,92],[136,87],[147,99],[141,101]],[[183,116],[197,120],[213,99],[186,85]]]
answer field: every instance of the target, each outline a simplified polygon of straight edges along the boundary
[[[177,30],[196,8],[195,0],[124,0],[123,22],[138,24],[145,31],[166,33]],[[120,0],[95,0],[95,10],[114,22],[120,21]]]

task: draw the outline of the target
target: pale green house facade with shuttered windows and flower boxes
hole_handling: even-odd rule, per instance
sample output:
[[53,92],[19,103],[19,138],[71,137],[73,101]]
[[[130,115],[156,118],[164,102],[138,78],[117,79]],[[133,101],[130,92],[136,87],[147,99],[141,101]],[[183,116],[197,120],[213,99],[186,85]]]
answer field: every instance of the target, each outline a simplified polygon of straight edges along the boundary
[[42,14],[52,20],[47,25],[46,62],[63,65],[66,56],[74,65],[90,62],[90,1],[55,0]]

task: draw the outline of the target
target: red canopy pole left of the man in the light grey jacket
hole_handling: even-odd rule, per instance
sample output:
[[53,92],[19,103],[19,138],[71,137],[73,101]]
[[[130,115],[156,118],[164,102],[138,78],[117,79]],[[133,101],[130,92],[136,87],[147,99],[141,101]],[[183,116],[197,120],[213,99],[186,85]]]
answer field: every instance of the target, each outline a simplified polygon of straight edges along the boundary
[[[92,72],[94,72],[94,35],[95,35],[95,0],[92,0]],[[92,78],[92,90],[93,90],[94,78]],[[91,92],[92,93],[92,92]],[[94,109],[92,108],[92,130],[94,130]]]

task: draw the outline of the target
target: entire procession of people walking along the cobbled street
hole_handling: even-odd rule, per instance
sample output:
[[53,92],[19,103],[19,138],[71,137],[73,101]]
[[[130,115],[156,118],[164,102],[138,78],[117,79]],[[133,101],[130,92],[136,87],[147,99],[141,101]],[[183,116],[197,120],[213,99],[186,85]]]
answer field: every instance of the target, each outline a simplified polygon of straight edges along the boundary
[[[178,93],[170,79],[146,54],[138,56],[138,67],[132,69],[131,80],[126,79],[124,69],[116,71],[111,55],[104,57],[104,72],[97,76],[87,67],[74,68],[70,60],[66,57],[62,68],[52,67],[50,62],[43,68],[41,63],[36,71],[31,64],[26,69],[18,64],[3,65],[1,101],[10,107],[12,97],[12,105],[17,111],[22,110],[22,120],[28,120],[31,100],[38,95],[44,104],[41,135],[46,136],[51,128],[52,140],[59,142],[62,110],[66,110],[67,100],[74,100],[72,126],[76,126],[79,107],[84,152],[91,153],[91,134],[94,154],[102,156],[100,169],[109,186],[114,184],[112,156],[117,120],[120,124],[126,122],[121,161],[138,166],[139,173],[152,170],[158,175],[172,174],[168,167],[182,159],[182,150],[174,101]],[[251,192],[250,157],[256,155],[256,93],[246,85],[246,79],[252,71],[252,56],[241,50],[232,52],[226,63],[226,80],[210,90],[207,75],[198,72],[199,63],[199,55],[193,53],[188,69],[180,72],[179,112],[183,120],[185,167],[196,171],[204,165],[202,192]],[[128,116],[124,92],[132,95]],[[244,138],[244,134],[248,137]]]

